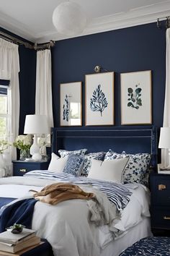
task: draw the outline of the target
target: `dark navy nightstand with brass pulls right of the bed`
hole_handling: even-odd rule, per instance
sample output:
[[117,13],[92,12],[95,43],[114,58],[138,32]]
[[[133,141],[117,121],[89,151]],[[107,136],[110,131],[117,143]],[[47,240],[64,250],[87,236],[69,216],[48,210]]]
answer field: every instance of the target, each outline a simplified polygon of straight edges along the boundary
[[150,185],[153,234],[170,234],[170,174],[151,174]]

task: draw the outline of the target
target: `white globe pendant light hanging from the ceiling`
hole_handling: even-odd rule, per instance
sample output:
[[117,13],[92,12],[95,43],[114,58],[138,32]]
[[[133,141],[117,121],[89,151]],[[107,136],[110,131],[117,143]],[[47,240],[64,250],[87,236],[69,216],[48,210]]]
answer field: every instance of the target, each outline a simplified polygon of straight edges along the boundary
[[79,35],[86,27],[86,14],[79,4],[66,1],[55,8],[53,25],[63,35]]

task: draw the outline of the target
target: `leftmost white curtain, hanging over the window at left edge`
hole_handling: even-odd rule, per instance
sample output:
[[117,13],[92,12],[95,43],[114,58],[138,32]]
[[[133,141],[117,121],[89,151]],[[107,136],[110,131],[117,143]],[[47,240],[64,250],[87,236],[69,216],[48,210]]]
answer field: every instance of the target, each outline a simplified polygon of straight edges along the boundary
[[[9,130],[14,141],[19,132],[19,53],[18,46],[0,38],[0,78],[10,80],[8,92]],[[12,159],[17,152],[12,147]]]

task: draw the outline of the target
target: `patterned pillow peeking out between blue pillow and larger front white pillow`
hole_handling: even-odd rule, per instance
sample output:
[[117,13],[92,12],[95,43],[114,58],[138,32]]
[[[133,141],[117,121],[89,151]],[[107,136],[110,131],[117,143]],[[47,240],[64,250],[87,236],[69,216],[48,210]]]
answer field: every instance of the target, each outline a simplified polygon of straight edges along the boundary
[[104,160],[105,152],[89,153],[84,155],[84,168],[81,173],[82,176],[88,176],[91,168],[91,159]]

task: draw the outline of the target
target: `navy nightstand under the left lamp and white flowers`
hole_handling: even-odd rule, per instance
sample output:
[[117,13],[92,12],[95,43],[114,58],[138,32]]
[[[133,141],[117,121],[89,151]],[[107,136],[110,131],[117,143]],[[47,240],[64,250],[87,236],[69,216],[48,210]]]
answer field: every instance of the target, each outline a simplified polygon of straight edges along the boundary
[[12,161],[13,163],[13,175],[23,176],[28,171],[33,170],[47,170],[48,162],[26,162],[26,161]]

